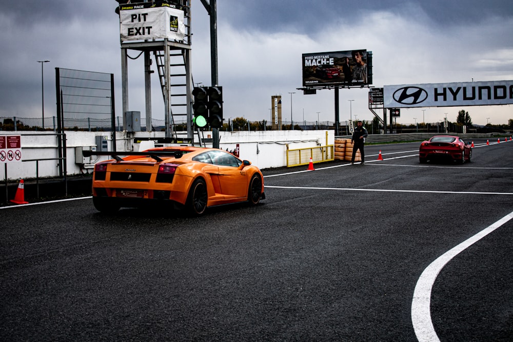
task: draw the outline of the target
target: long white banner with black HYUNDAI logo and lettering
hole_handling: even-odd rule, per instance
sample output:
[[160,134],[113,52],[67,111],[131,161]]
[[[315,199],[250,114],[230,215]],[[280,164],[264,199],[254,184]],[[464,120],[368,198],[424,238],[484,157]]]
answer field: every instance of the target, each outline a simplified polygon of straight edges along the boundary
[[513,81],[432,83],[383,87],[385,108],[513,104]]

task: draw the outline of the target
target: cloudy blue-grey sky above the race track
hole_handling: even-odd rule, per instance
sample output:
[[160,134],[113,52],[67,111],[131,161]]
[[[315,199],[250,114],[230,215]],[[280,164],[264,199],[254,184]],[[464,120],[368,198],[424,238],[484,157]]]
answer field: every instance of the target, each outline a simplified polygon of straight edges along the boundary
[[[511,0],[218,0],[219,83],[225,118],[270,119],[271,96],[283,96],[294,122],[334,120],[333,90],[303,95],[303,53],[367,49],[374,86],[513,79]],[[55,67],[113,73],[121,116],[121,50],[115,0],[7,0],[0,12],[0,117],[55,115]],[[209,19],[192,0],[194,82],[210,82]],[[142,59],[142,58],[140,58]],[[144,116],[142,61],[129,63],[129,110]],[[155,74],[154,74],[155,75]],[[164,119],[154,79],[153,118]],[[340,119],[370,120],[368,89],[340,90]],[[512,106],[424,108],[426,122],[465,109],[473,123],[506,124]],[[414,119],[416,118],[416,119]],[[402,110],[398,122],[422,122],[421,108]]]

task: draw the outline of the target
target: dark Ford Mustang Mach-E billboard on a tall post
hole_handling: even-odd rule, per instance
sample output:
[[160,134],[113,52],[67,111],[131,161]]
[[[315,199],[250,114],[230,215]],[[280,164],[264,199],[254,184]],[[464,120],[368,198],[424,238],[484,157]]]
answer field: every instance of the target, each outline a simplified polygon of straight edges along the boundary
[[366,86],[367,50],[303,54],[303,86]]

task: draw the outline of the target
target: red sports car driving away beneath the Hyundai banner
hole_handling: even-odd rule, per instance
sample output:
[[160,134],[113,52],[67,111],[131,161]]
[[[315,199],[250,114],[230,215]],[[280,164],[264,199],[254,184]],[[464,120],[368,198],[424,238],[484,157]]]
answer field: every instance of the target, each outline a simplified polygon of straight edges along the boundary
[[455,135],[435,135],[429,140],[422,142],[419,148],[419,162],[426,163],[427,160],[435,158],[450,158],[461,164],[470,163],[472,148],[469,143]]

